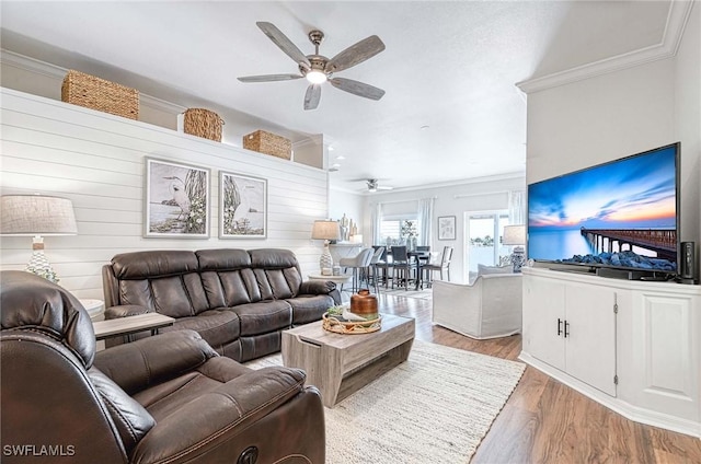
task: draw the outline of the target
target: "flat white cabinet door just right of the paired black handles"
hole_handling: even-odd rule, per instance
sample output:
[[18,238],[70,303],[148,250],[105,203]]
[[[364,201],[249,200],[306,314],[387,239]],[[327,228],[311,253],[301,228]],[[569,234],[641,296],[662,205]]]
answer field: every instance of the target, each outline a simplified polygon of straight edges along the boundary
[[[628,294],[628,293],[622,293]],[[570,285],[566,289],[566,372],[616,396],[616,314],[624,304],[614,289]]]

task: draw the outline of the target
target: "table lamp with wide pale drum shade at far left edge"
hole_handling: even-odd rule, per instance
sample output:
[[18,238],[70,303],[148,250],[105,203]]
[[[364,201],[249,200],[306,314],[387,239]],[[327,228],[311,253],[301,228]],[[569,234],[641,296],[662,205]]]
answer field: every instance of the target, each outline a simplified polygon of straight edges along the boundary
[[0,234],[34,237],[32,258],[24,270],[58,282],[58,276],[44,255],[44,236],[78,233],[73,204],[60,197],[3,195],[0,211]]

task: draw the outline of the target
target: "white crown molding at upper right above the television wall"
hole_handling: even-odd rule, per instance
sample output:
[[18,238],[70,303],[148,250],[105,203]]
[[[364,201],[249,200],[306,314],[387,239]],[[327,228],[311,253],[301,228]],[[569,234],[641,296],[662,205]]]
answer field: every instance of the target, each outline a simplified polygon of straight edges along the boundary
[[685,27],[691,15],[694,1],[670,1],[669,13],[662,42],[634,51],[582,65],[565,71],[555,72],[542,78],[517,82],[516,86],[526,94],[583,81],[585,79],[621,71],[677,55]]

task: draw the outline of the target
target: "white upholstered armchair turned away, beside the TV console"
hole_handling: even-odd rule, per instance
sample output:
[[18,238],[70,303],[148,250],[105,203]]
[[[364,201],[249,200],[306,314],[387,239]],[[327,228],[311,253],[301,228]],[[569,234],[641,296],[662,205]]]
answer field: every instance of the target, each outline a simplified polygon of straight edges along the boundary
[[520,274],[478,274],[470,283],[435,280],[433,323],[471,338],[521,332]]

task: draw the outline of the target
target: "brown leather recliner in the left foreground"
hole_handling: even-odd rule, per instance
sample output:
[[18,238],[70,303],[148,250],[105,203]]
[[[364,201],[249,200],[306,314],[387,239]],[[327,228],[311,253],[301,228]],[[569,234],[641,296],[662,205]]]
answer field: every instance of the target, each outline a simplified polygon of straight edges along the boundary
[[297,369],[251,370],[193,330],[95,353],[61,287],[0,271],[3,463],[323,463],[319,391]]

